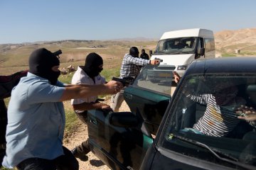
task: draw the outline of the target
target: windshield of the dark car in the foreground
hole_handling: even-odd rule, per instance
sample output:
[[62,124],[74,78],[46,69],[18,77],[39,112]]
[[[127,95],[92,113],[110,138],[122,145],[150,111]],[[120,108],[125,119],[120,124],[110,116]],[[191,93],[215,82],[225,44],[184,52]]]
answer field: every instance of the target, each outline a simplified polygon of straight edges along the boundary
[[160,147],[232,168],[238,163],[256,168],[256,121],[238,118],[256,114],[256,77],[188,76],[174,98]]

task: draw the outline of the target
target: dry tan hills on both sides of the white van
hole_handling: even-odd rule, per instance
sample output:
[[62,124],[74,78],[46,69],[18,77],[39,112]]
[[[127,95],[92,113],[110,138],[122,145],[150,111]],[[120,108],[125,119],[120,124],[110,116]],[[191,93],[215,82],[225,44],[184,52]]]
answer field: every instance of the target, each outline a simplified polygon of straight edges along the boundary
[[[256,56],[256,28],[241,30],[223,30],[214,34],[216,57],[219,56]],[[129,47],[137,46],[139,50],[144,48],[148,53],[154,50],[157,40],[149,38],[123,38],[119,40],[60,40],[52,42],[26,42],[21,44],[0,45],[0,72],[11,74],[27,69],[28,56],[38,47],[46,47],[55,51],[61,49],[61,67],[69,64],[78,65],[83,62],[89,52],[98,52],[105,57],[111,67],[119,67],[122,57],[129,51]],[[240,54],[235,54],[240,50]],[[72,61],[72,63],[70,63]]]

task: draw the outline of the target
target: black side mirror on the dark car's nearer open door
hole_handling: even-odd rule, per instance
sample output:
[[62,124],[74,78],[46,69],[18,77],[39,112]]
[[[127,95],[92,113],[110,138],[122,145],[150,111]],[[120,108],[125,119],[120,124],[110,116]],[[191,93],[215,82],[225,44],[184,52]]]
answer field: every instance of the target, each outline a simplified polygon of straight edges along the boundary
[[110,125],[122,128],[136,127],[139,120],[136,115],[131,112],[116,112],[110,114]]

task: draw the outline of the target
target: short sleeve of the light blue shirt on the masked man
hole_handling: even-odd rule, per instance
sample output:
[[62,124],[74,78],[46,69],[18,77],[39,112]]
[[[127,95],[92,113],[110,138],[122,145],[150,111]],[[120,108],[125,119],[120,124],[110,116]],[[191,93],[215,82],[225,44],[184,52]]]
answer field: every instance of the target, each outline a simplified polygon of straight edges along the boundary
[[53,86],[46,82],[37,82],[28,88],[26,101],[28,103],[58,102],[65,87]]

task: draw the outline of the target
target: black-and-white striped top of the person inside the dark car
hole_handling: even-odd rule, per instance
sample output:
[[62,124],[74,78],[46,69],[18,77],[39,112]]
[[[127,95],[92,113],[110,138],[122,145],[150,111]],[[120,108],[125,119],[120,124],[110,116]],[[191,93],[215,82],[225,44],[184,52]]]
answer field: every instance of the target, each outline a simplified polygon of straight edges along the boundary
[[223,137],[240,122],[235,115],[235,107],[245,104],[242,98],[235,98],[228,106],[218,106],[213,94],[188,95],[191,100],[206,105],[204,115],[193,125],[193,128],[205,135]]

